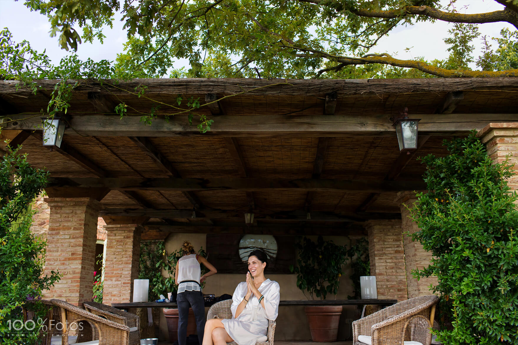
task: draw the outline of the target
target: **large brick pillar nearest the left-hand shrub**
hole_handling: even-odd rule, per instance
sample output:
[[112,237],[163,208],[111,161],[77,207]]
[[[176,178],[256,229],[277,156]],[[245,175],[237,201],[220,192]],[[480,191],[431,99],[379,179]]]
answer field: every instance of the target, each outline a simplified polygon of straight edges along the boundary
[[50,207],[45,274],[63,277],[45,298],[59,298],[76,306],[92,300],[92,282],[100,204],[88,197],[46,198]]

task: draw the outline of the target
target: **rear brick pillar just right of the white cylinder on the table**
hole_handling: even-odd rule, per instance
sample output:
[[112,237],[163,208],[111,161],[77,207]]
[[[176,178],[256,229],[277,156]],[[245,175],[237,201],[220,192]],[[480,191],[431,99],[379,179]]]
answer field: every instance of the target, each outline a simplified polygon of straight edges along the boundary
[[369,234],[370,275],[376,276],[378,298],[407,299],[401,221],[370,220],[365,228]]

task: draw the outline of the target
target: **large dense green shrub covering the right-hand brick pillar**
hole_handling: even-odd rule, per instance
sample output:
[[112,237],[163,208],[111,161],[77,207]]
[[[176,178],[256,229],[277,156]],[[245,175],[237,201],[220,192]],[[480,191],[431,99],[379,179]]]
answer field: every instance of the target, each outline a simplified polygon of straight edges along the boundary
[[437,276],[445,318],[443,343],[518,344],[518,211],[506,179],[475,132],[444,142],[445,157],[423,159],[428,193],[412,209],[412,234],[434,258],[417,277]]

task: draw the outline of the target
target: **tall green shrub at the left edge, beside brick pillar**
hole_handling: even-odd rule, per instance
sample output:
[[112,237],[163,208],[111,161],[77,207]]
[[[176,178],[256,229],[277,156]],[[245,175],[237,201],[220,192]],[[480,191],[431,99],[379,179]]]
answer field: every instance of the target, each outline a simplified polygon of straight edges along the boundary
[[34,214],[31,203],[41,193],[46,181],[47,172],[32,168],[26,155],[18,154],[17,150],[0,160],[2,344],[34,343],[41,323],[22,327],[21,307],[27,299],[40,298],[42,290],[48,290],[59,280],[59,274],[54,271],[44,276],[46,242],[31,232]]

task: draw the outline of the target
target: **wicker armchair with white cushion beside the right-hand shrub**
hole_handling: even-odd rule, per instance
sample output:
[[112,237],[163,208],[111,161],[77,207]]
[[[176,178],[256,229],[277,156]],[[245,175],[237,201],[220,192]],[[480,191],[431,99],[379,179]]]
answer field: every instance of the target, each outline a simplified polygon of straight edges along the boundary
[[415,297],[354,321],[353,344],[366,345],[358,340],[362,335],[370,336],[372,345],[404,345],[404,341],[430,345],[438,301],[435,295]]

